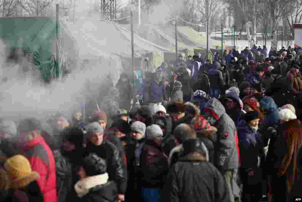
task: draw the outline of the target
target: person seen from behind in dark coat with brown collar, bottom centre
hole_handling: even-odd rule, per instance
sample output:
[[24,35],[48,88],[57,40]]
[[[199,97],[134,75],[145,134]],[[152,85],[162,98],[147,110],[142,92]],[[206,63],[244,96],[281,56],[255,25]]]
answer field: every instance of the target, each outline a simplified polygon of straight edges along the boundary
[[181,158],[169,171],[162,201],[229,202],[227,184],[208,158],[202,141],[196,137],[185,140]]

